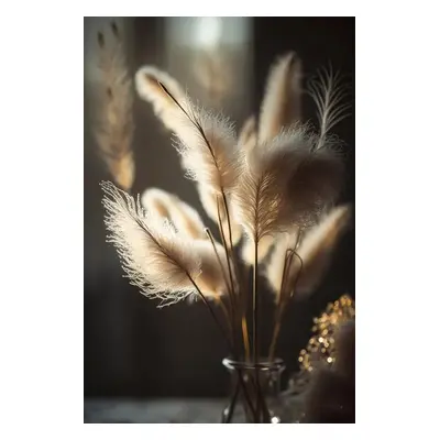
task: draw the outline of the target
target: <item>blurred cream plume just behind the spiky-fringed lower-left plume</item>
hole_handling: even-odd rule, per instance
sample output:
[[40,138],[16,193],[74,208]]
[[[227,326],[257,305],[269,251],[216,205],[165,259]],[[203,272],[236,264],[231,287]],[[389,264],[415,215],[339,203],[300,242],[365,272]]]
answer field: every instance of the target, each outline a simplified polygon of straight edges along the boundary
[[155,211],[167,218],[177,231],[188,239],[207,239],[198,212],[177,196],[160,188],[148,188],[142,194],[141,204],[147,211]]

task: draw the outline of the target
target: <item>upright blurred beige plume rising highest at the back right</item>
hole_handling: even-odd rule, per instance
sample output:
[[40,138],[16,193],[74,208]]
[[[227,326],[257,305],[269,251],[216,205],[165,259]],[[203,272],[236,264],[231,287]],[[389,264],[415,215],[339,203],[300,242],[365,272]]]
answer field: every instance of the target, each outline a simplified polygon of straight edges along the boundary
[[301,62],[290,52],[271,68],[258,125],[258,144],[272,141],[282,130],[301,117]]

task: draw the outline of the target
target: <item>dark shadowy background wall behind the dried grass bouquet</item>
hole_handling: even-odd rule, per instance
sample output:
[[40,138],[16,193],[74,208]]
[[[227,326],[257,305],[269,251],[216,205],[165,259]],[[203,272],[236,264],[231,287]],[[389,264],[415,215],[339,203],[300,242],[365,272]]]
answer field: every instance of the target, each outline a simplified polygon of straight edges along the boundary
[[[92,21],[85,19],[85,53],[95,44]],[[133,69],[142,64],[167,68],[162,50],[164,19],[136,18],[131,23]],[[252,24],[249,51],[253,56],[246,58],[252,67],[249,111],[257,111],[267,69],[286,51],[299,54],[306,75],[331,62],[351,81],[352,116],[336,132],[346,143],[346,185],[341,201],[354,202],[354,18],[255,18]],[[205,307],[182,302],[157,309],[122,277],[116,251],[106,243],[99,182],[110,176],[90,135],[92,94],[86,76],[85,70],[85,396],[223,395],[228,376],[221,359],[228,351]],[[201,209],[193,183],[183,177],[169,133],[145,102],[136,99],[134,111],[138,173],[133,193],[156,186]],[[240,124],[249,111],[232,113]],[[305,119],[315,120],[309,100],[304,113]],[[341,240],[315,296],[295,301],[287,311],[278,349],[288,371],[297,369],[296,359],[307,344],[312,317],[345,293],[355,296],[354,230]],[[264,307],[270,307],[268,296],[262,295],[267,298]],[[267,326],[265,322],[265,330]]]

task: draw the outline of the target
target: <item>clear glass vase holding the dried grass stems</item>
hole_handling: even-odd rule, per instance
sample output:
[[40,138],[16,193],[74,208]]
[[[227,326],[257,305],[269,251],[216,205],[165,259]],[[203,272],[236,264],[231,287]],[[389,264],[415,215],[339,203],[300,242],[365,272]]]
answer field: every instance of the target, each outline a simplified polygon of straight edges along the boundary
[[283,400],[280,377],[283,360],[252,362],[223,360],[231,375],[229,404],[222,413],[222,424],[279,424]]

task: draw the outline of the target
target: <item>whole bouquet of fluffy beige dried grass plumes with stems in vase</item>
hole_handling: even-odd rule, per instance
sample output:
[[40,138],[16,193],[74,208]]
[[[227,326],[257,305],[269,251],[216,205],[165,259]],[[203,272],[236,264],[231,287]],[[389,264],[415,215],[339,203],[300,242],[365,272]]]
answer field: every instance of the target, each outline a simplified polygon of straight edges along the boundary
[[[102,184],[110,241],[131,283],[158,299],[158,307],[201,299],[232,356],[254,365],[274,359],[287,304],[317,286],[349,219],[349,207],[333,208],[343,161],[329,131],[346,111],[339,107],[340,77],[326,72],[310,84],[318,131],[300,120],[300,82],[298,57],[280,57],[271,69],[260,117],[251,117],[237,135],[227,118],[196,106],[168,74],[153,66],[136,73],[138,92],[175,134],[182,165],[196,182],[221,243],[176,196],[152,188],[134,199]],[[241,260],[253,272],[251,288],[237,252],[240,242]],[[261,265],[276,306],[267,349],[258,334]],[[253,421],[267,421],[257,373],[253,394],[239,378]]]

